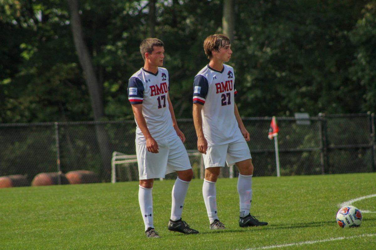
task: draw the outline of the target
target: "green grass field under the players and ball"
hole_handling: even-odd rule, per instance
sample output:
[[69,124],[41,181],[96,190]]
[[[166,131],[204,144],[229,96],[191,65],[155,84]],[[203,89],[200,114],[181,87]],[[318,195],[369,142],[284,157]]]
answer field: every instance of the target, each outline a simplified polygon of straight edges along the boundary
[[173,182],[153,188],[160,239],[145,237],[137,182],[0,189],[0,249],[376,249],[376,197],[353,203],[374,212],[363,213],[361,227],[335,221],[340,203],[376,194],[376,173],[254,177],[251,212],[269,225],[253,228],[238,226],[237,179],[219,179],[221,232],[209,230],[202,180],[194,179],[183,220],[198,235],[167,230]]

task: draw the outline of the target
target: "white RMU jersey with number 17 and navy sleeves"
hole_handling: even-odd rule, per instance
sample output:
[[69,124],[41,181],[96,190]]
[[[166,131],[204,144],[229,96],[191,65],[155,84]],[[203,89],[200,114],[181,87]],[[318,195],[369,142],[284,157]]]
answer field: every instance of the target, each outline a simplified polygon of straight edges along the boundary
[[[157,142],[176,136],[168,109],[168,90],[170,90],[170,78],[165,68],[158,67],[156,74],[141,68],[129,78],[128,99],[131,104],[143,104],[142,113],[147,128]],[[136,143],[146,144],[146,139],[138,125]]]

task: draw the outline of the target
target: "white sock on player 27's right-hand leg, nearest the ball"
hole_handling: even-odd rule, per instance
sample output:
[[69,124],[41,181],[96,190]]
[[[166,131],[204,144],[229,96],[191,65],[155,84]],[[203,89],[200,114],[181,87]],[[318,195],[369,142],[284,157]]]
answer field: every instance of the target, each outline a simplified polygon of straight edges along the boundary
[[241,175],[238,177],[237,185],[239,193],[240,217],[247,216],[252,202],[252,175]]

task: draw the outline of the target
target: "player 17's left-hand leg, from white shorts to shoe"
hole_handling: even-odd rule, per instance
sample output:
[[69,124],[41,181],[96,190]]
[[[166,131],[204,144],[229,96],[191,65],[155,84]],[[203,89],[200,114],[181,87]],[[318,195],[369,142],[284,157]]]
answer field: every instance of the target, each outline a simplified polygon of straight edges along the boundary
[[148,238],[159,238],[153,224],[153,183],[154,178],[163,178],[167,164],[167,148],[158,143],[159,153],[147,151],[146,145],[136,144],[139,173],[138,202],[143,216],[145,233]]

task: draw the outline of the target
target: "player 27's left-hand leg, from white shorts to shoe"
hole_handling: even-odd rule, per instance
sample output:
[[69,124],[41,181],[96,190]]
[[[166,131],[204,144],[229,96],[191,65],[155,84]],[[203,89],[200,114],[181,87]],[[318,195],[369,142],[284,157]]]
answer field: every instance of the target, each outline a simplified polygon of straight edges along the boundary
[[225,229],[223,223],[218,219],[217,191],[215,183],[221,167],[226,161],[228,145],[210,146],[203,154],[205,164],[205,179],[202,185],[202,196],[204,198],[206,212],[208,213],[210,229]]

